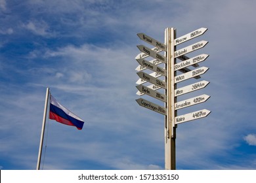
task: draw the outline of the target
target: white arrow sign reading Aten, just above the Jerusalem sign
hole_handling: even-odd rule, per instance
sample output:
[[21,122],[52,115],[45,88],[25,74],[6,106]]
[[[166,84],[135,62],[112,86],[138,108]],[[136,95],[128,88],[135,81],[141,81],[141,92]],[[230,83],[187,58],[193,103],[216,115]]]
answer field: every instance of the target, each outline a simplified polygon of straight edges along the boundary
[[210,83],[209,81],[202,80],[200,82],[196,82],[194,84],[190,84],[188,86],[178,88],[174,91],[174,95],[175,95],[175,97],[177,97],[179,95],[183,95],[186,93],[194,92],[196,90],[200,90],[202,88],[205,88],[205,86],[207,86],[209,83]]

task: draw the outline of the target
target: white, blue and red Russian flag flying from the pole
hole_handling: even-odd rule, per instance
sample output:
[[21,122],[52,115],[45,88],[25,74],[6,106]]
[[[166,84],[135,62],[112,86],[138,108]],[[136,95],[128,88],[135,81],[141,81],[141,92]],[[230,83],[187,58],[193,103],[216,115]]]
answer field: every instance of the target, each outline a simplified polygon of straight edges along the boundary
[[82,129],[84,124],[83,120],[58,103],[52,95],[50,95],[49,118],[65,125],[75,126],[77,129]]

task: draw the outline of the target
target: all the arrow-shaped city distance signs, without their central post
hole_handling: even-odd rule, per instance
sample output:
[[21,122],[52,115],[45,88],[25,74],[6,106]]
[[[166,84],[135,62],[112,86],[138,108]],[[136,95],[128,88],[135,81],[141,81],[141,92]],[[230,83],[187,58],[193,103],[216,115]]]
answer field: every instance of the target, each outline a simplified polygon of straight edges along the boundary
[[[183,35],[182,37],[175,39],[173,45],[177,46],[178,44],[186,42],[190,39],[199,37],[200,35],[203,35],[205,31],[207,31],[206,28],[200,28],[195,31],[192,31],[191,33],[188,33],[186,35]],[[136,82],[137,84],[139,84],[137,86],[137,89],[139,90],[139,92],[137,92],[137,95],[146,94],[162,101],[163,103],[166,103],[167,96],[164,93],[158,92],[157,90],[159,90],[160,88],[163,88],[165,90],[165,93],[167,93],[166,91],[167,83],[164,80],[160,79],[160,76],[165,76],[165,77],[167,76],[167,71],[165,68],[160,67],[159,65],[161,63],[167,63],[167,58],[163,56],[163,54],[160,54],[160,52],[162,51],[166,52],[167,46],[169,45],[163,44],[162,42],[157,41],[156,39],[153,39],[152,37],[144,33],[139,33],[137,35],[142,41],[145,41],[148,44],[154,46],[154,48],[148,48],[147,46],[144,46],[144,45],[137,46],[139,50],[142,52],[135,58],[139,63],[139,66],[136,68],[136,71],[139,71],[137,75],[139,75],[140,77],[140,79]],[[177,76],[175,75],[175,83],[188,80],[189,78],[200,78],[200,75],[203,75],[209,69],[207,67],[199,67],[198,65],[198,63],[207,59],[209,55],[200,54],[193,58],[188,58],[185,55],[190,52],[199,50],[200,48],[203,48],[207,43],[208,43],[207,41],[196,42],[195,44],[186,46],[185,48],[181,48],[174,52],[174,58],[180,59],[181,62],[176,63],[173,66],[173,68],[175,71],[182,72],[181,75],[177,75]],[[174,48],[171,48],[171,49],[174,49]],[[154,59],[148,61],[146,60],[146,58],[148,57],[152,57]],[[190,69],[188,69],[189,66],[199,67],[199,68],[191,71]],[[144,72],[145,69],[150,69],[151,71],[153,71],[153,73],[150,73],[150,74],[145,73]],[[168,79],[170,78],[166,78],[166,80]],[[144,83],[146,82],[150,82],[151,85],[145,86]],[[202,80],[200,82],[196,82],[194,84],[190,84],[182,88],[177,88],[175,91],[172,91],[172,92],[175,93],[175,97],[178,97],[179,95],[183,95],[185,93],[194,92],[196,90],[205,88],[207,84],[209,84],[209,82]],[[204,94],[204,95],[199,95],[197,97],[192,97],[190,99],[186,99],[184,101],[179,101],[175,103],[175,107],[173,107],[172,110],[179,110],[184,107],[190,107],[192,105],[203,103],[207,101],[209,97],[210,97],[209,95]],[[167,115],[167,108],[162,107],[161,105],[157,105],[156,103],[152,103],[142,98],[139,98],[136,101],[142,107],[148,108],[150,110],[154,110],[163,115]],[[175,116],[175,124],[181,124],[183,122],[188,122],[190,120],[196,120],[199,118],[206,117],[210,112],[211,112],[210,110],[203,109],[203,110],[198,110],[188,114],[184,114],[181,116]]]

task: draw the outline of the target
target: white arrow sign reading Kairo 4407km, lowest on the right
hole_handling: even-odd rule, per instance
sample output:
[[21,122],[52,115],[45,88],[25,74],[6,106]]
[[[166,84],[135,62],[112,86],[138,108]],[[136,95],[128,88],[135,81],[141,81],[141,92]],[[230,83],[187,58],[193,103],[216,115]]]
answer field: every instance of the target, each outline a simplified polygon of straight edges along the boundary
[[181,115],[181,116],[177,116],[177,117],[175,117],[175,124],[181,124],[181,123],[188,122],[188,121],[191,121],[191,120],[197,120],[199,118],[204,118],[210,112],[211,112],[210,110],[203,109],[203,110],[198,110],[198,111],[191,112],[191,113],[188,113],[188,114],[184,114],[184,115]]

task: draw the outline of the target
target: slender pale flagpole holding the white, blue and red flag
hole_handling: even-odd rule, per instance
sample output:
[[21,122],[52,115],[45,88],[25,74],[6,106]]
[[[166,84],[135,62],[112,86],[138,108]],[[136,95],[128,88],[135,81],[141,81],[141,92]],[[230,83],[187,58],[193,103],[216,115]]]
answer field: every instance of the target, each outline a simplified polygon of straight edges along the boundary
[[49,88],[46,89],[45,111],[43,112],[43,124],[42,124],[41,140],[40,140],[38,159],[37,159],[37,170],[40,169],[40,163],[41,163],[41,154],[42,154],[42,147],[43,147],[43,137],[44,137],[44,134],[45,134],[45,121],[46,121],[47,106],[48,106],[48,100],[49,100],[49,90],[50,90]]

